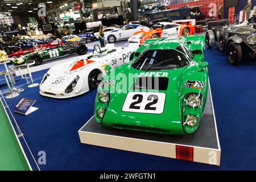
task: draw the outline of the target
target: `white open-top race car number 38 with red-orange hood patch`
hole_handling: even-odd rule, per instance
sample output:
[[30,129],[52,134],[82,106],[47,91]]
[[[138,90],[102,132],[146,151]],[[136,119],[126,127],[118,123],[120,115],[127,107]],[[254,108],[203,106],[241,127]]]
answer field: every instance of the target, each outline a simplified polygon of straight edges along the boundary
[[103,49],[96,46],[93,52],[80,56],[80,59],[50,68],[40,83],[40,94],[53,98],[69,98],[95,89],[105,75],[106,65],[115,68],[128,63],[138,49],[138,44],[129,44],[128,47],[107,44]]

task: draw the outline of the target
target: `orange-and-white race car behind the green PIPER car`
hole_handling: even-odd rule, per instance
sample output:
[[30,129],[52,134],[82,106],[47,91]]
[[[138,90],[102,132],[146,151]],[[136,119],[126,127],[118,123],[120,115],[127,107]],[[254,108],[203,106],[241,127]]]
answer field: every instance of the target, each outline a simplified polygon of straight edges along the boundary
[[147,39],[172,37],[172,36],[177,37],[177,36],[195,34],[195,26],[196,26],[195,19],[177,20],[175,22],[156,23],[148,31],[135,32],[128,39],[128,42],[139,43],[140,45],[142,45]]

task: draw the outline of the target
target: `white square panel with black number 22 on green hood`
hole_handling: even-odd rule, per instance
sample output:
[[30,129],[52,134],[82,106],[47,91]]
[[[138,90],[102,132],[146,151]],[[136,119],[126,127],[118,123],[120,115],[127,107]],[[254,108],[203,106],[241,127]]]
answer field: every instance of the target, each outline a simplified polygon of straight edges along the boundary
[[129,92],[122,111],[133,113],[162,114],[166,94],[159,92]]

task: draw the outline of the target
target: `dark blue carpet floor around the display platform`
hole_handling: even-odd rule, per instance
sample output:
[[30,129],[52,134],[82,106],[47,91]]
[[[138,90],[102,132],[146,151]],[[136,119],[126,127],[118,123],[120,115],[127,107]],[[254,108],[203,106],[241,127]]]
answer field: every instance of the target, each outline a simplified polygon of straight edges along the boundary
[[[77,131],[93,115],[96,90],[57,100],[40,96],[39,87],[7,100],[13,108],[21,98],[35,99],[34,113],[14,113],[32,153],[46,151],[42,170],[255,170],[256,62],[238,67],[217,49],[206,51],[210,85],[221,145],[221,166],[192,163],[159,156],[81,144]],[[32,73],[40,82],[47,70]],[[24,80],[18,85],[23,85]],[[0,88],[4,89],[4,88]],[[31,162],[32,163],[32,162]]]

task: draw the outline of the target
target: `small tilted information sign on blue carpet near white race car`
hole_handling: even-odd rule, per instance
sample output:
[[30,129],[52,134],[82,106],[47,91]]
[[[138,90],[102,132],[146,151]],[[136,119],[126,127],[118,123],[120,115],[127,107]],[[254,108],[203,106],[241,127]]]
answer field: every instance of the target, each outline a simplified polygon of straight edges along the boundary
[[19,103],[15,106],[14,112],[19,114],[28,115],[35,110],[38,110],[37,107],[32,107],[36,100],[32,100],[30,98],[22,98]]

